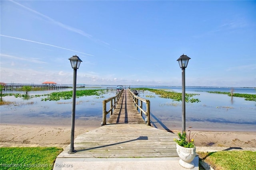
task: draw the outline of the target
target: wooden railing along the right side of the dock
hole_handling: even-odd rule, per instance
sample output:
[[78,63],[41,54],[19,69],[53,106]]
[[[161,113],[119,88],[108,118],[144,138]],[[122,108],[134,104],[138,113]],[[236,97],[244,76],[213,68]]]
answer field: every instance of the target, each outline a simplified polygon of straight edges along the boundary
[[[130,96],[132,97],[134,105],[136,106],[136,110],[138,110],[138,109],[140,110],[141,116],[142,116],[142,113],[144,113],[146,115],[146,118],[147,118],[147,120],[145,120],[146,124],[150,126],[150,101],[136,96],[130,89],[128,89],[128,92],[129,92]],[[139,105],[139,103],[140,103],[140,105]],[[142,108],[143,103],[146,103],[146,111],[144,111]]]

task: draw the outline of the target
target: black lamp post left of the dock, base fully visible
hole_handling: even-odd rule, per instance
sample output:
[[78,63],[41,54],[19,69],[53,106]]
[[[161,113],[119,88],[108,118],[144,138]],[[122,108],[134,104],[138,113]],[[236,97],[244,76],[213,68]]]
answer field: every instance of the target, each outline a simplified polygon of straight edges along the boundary
[[70,141],[70,150],[68,154],[76,153],[74,149],[74,134],[75,134],[75,113],[76,113],[76,70],[79,68],[80,63],[82,62],[78,56],[74,55],[73,57],[69,58],[72,68],[74,69],[74,76],[73,76],[73,103],[72,103],[72,123],[71,123],[71,141]]

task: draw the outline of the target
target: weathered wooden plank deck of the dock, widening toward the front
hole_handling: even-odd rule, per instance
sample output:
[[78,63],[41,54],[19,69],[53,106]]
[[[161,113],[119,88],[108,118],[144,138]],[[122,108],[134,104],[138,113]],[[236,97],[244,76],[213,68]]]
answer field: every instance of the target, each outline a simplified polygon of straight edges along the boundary
[[174,133],[146,125],[124,90],[107,125],[79,135],[58,158],[178,157]]

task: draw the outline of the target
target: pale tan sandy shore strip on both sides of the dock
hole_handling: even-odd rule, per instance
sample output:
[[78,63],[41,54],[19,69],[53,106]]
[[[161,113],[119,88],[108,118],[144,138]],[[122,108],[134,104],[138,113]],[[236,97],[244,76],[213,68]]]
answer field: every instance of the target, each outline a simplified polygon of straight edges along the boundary
[[[75,127],[75,137],[96,129]],[[174,133],[178,131],[173,130]],[[256,132],[192,131],[198,147],[256,147]],[[0,125],[0,147],[62,147],[70,144],[70,127]]]

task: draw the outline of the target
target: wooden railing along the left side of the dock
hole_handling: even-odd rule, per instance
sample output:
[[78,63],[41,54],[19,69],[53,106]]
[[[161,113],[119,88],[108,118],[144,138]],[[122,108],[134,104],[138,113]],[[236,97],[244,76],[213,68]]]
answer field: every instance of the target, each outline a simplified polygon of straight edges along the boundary
[[[102,125],[106,125],[107,114],[110,113],[110,116],[113,114],[113,110],[116,108],[117,102],[120,99],[121,94],[124,92],[124,89],[120,90],[116,96],[103,100],[102,102]],[[107,103],[110,102],[110,109],[107,111]]]

